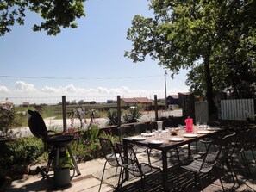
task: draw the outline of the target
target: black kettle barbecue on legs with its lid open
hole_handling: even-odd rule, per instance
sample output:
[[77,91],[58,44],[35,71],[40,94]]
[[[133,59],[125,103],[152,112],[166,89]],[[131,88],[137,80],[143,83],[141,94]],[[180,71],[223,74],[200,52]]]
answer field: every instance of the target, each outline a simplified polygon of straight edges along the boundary
[[[42,139],[44,144],[47,146],[48,150],[48,162],[47,167],[45,169],[37,168],[43,177],[47,177],[48,171],[51,167],[51,164],[54,164],[54,169],[58,169],[59,165],[64,164],[64,162],[60,162],[61,157],[66,155],[66,149],[69,153],[70,158],[72,159],[72,166],[74,166],[77,174],[80,175],[80,171],[78,169],[78,164],[76,163],[75,158],[72,155],[72,150],[70,148],[70,144],[74,140],[72,135],[63,135],[63,134],[49,134],[53,131],[48,131],[45,122],[43,121],[41,115],[37,111],[28,110],[28,114],[30,115],[28,119],[28,127],[33,133],[33,135],[37,138]],[[55,162],[53,159],[55,158]],[[69,164],[69,163],[67,163]]]

